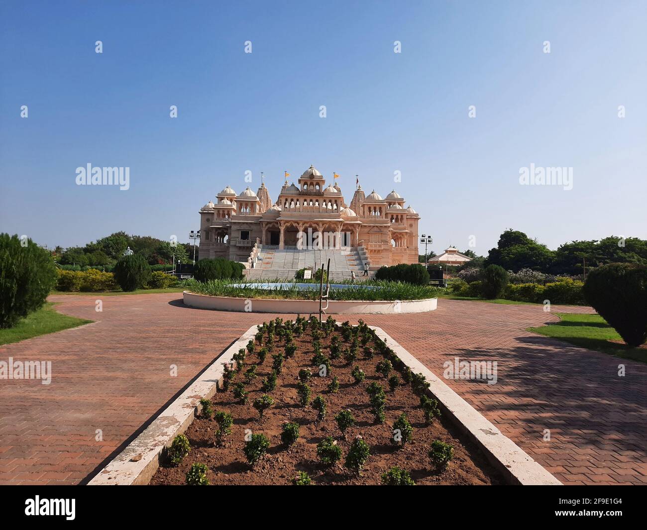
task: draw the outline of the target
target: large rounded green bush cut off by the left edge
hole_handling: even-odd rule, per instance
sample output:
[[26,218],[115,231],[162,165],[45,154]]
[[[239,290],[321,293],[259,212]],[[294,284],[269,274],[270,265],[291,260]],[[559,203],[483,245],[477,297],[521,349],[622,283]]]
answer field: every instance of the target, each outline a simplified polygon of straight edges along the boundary
[[58,275],[50,253],[31,239],[0,234],[0,327],[39,309]]

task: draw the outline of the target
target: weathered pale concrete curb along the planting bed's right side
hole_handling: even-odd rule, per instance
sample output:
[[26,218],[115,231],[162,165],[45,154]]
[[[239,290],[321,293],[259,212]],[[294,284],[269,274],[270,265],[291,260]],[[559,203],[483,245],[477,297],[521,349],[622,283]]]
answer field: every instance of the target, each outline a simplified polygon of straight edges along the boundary
[[441,410],[448,415],[476,445],[510,484],[517,485],[562,485],[552,474],[534,461],[523,449],[490,423],[465,399],[454,392],[439,377],[402,348],[380,327],[369,326],[379,338],[395,351],[404,364],[414,373],[422,373],[430,382],[429,393],[438,400]]

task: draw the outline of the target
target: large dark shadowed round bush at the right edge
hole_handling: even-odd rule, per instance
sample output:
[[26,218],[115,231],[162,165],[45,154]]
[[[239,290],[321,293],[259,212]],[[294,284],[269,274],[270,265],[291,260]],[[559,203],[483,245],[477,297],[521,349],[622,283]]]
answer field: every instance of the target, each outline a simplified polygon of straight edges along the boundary
[[611,263],[593,269],[584,298],[629,346],[647,340],[647,267]]

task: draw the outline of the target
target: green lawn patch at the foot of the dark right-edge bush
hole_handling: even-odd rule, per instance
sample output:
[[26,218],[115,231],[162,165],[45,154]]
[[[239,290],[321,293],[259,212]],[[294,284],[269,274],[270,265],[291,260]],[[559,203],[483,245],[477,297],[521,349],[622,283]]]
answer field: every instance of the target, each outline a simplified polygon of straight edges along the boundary
[[527,331],[539,333],[546,337],[557,338],[581,346],[622,357],[623,359],[647,362],[647,349],[631,348],[626,344],[617,344],[609,340],[622,340],[613,327],[600,315],[576,315],[575,313],[553,313],[560,322],[542,327],[529,327]]

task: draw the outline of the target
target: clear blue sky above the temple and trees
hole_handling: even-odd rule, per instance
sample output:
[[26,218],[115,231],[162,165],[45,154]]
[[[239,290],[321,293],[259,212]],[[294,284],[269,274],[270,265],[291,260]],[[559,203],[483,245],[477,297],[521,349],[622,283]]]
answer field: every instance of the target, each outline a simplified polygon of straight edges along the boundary
[[[3,1],[0,231],[188,241],[246,170],[274,200],[314,164],[348,203],[356,174],[395,188],[436,252],[506,228],[647,238],[646,20],[644,1]],[[77,186],[88,163],[128,166],[130,189]],[[573,189],[521,186],[530,164]]]

